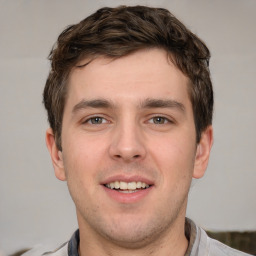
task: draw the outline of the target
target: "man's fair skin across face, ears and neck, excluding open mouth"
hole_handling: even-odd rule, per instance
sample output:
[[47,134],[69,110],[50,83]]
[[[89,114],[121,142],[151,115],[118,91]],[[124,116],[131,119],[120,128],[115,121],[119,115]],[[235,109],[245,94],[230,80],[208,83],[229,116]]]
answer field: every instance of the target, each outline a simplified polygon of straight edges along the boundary
[[[186,252],[188,191],[192,177],[204,175],[213,141],[209,126],[196,144],[188,84],[160,49],[73,69],[62,152],[51,129],[46,143],[76,205],[80,255]],[[151,185],[138,198],[113,197],[104,186],[135,178]]]

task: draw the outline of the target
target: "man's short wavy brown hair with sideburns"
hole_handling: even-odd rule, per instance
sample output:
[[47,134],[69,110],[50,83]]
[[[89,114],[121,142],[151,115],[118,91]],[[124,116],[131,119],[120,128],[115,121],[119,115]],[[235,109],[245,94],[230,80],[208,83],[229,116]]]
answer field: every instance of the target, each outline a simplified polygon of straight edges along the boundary
[[85,57],[119,58],[145,48],[161,48],[190,79],[197,142],[212,123],[213,91],[208,68],[210,52],[168,10],[145,6],[102,8],[66,28],[50,52],[51,71],[44,105],[61,150],[61,127],[70,71]]

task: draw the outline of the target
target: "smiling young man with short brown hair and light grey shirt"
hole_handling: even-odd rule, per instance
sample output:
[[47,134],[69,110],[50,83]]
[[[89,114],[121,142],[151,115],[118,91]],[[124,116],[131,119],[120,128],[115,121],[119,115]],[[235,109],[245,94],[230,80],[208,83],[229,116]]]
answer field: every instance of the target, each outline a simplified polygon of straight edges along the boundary
[[185,218],[213,143],[209,58],[165,9],[103,8],[61,33],[46,143],[79,230],[46,255],[246,255]]

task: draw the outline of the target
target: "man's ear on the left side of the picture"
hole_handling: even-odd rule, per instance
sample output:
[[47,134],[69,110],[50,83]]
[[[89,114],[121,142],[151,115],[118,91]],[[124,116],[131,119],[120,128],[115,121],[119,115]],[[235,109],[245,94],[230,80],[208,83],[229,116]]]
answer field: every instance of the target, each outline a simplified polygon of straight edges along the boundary
[[66,180],[66,174],[64,170],[63,156],[62,156],[62,152],[56,146],[55,137],[53,134],[53,130],[51,128],[46,130],[45,140],[46,140],[47,148],[51,155],[55,176],[59,180],[64,181]]

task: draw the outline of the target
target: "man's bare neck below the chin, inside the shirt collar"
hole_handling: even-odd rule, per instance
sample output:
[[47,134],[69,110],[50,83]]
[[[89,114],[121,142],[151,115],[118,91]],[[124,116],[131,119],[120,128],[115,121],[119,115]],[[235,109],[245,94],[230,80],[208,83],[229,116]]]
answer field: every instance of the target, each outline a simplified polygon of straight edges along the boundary
[[[79,225],[79,227],[81,227]],[[94,234],[92,234],[92,232]],[[188,247],[185,236],[185,217],[177,219],[170,230],[161,234],[157,239],[141,245],[120,243],[102,237],[95,231],[80,228],[80,256],[184,256]]]

